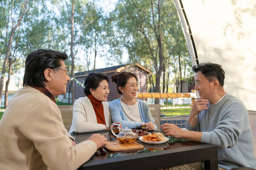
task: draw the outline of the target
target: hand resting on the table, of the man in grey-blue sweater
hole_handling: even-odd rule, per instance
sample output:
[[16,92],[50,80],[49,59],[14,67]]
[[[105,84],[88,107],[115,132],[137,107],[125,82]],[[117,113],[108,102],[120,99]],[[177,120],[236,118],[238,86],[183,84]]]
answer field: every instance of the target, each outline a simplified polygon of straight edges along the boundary
[[183,138],[183,132],[180,127],[175,126],[174,124],[165,123],[161,125],[162,132],[165,133],[165,136],[173,136],[176,138]]

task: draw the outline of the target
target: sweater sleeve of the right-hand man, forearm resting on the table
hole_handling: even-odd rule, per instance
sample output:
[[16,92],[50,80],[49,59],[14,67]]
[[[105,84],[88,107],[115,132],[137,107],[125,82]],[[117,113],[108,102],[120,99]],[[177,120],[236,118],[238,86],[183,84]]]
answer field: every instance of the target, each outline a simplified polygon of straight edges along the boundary
[[246,111],[239,102],[226,106],[219,114],[221,118],[217,127],[210,132],[202,132],[201,142],[220,148],[235,146],[244,129]]

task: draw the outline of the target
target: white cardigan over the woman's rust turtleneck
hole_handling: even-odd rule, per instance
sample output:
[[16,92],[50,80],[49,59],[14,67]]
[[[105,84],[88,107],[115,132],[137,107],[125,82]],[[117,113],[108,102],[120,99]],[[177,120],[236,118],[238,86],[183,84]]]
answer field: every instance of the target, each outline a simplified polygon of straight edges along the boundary
[[[106,126],[110,127],[111,115],[108,102],[102,102]],[[97,123],[95,111],[90,99],[85,96],[77,99],[73,105],[73,119],[69,133],[82,133],[106,130],[106,126]]]

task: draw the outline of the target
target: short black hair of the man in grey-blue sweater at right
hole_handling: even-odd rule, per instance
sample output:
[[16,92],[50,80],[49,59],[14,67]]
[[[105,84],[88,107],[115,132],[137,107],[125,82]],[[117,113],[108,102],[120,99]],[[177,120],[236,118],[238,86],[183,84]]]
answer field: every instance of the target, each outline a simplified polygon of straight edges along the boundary
[[201,71],[201,73],[209,80],[209,82],[217,79],[219,81],[219,85],[223,87],[225,71],[221,68],[221,65],[207,62],[200,63],[197,66],[193,66],[192,69],[195,73]]

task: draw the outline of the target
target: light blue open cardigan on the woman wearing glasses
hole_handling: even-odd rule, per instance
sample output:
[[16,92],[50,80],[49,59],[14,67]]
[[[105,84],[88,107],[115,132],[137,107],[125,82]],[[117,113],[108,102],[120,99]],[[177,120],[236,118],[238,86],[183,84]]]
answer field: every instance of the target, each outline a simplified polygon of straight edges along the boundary
[[[137,99],[137,102],[138,102],[138,108],[139,108],[140,118],[142,122],[128,121],[122,109],[120,98],[110,103],[112,121],[120,122],[122,124],[122,127],[127,126],[128,128],[140,127],[140,124],[148,123],[148,122],[153,122],[155,125],[155,120],[151,116],[150,110],[146,102],[138,99]],[[155,125],[155,129],[157,129],[156,125]]]

